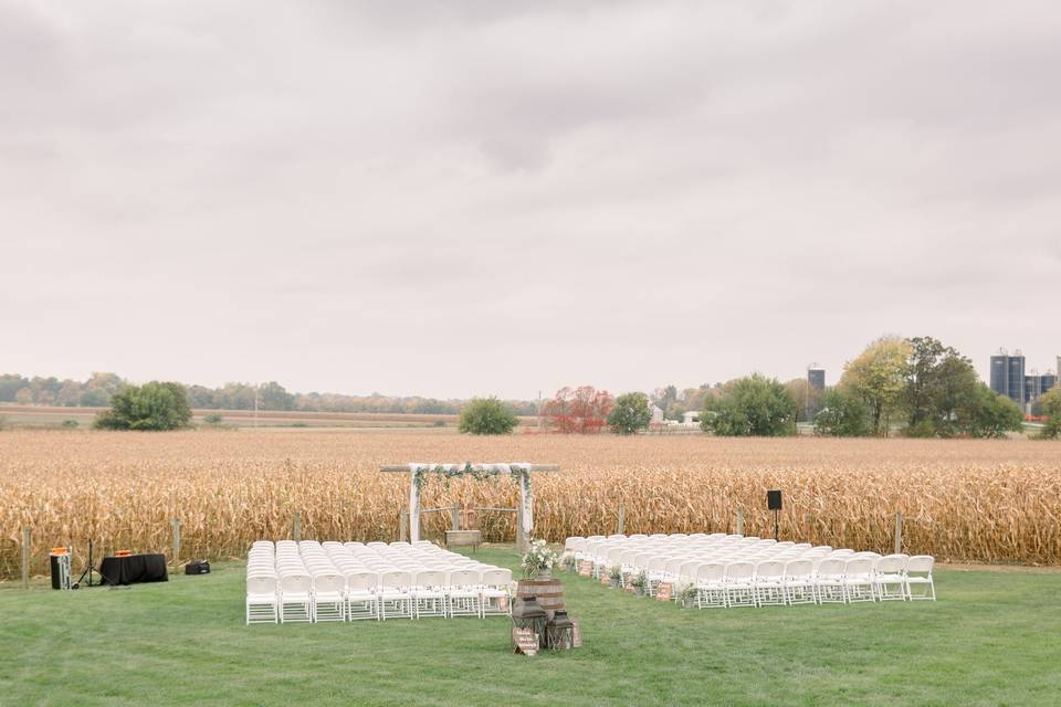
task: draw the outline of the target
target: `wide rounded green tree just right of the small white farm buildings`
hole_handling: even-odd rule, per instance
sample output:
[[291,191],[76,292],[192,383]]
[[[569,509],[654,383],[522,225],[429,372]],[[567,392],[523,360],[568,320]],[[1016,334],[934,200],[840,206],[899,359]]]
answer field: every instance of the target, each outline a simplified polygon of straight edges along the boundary
[[781,436],[796,432],[797,403],[776,378],[758,373],[729,381],[707,399],[700,426],[723,436]]

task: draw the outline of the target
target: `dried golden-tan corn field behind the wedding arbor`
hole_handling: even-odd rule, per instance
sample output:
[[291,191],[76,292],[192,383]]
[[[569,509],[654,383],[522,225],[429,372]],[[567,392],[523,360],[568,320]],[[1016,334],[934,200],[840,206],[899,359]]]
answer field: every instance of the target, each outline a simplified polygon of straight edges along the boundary
[[[773,534],[765,489],[785,492],[781,535],[887,551],[895,511],[904,549],[943,560],[1061,563],[1061,444],[1026,441],[722,440],[706,436],[466,437],[440,432],[262,430],[167,434],[0,433],[0,577],[19,572],[32,528],[33,571],[54,545],[239,557],[256,538],[396,539],[408,478],[382,463],[559,463],[536,475],[536,535]],[[432,478],[423,507],[514,506],[508,481]],[[424,516],[437,537],[449,516]],[[475,518],[487,539],[511,540],[511,514]]]

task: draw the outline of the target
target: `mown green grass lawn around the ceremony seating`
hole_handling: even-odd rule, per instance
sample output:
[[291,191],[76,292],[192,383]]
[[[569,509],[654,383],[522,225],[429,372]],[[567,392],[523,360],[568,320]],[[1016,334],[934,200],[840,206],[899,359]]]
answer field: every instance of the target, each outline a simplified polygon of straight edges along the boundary
[[244,626],[242,566],[214,570],[0,585],[0,705],[1061,704],[1058,573],[939,570],[935,603],[722,610],[561,573],[584,647],[527,658],[503,618]]

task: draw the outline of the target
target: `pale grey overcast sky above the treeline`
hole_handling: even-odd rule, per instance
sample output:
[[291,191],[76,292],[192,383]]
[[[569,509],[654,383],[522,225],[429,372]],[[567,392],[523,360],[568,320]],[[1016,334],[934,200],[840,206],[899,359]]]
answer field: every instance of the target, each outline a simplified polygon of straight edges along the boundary
[[1059,67],[1055,1],[0,0],[0,371],[1053,368]]

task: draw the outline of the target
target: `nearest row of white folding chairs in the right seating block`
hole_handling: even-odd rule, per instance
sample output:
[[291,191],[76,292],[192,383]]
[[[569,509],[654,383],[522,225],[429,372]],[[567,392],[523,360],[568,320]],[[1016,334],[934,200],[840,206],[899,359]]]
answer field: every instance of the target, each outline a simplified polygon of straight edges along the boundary
[[[931,556],[708,562],[696,568],[698,606],[765,606],[928,599]],[[917,587],[917,592],[913,589]]]

